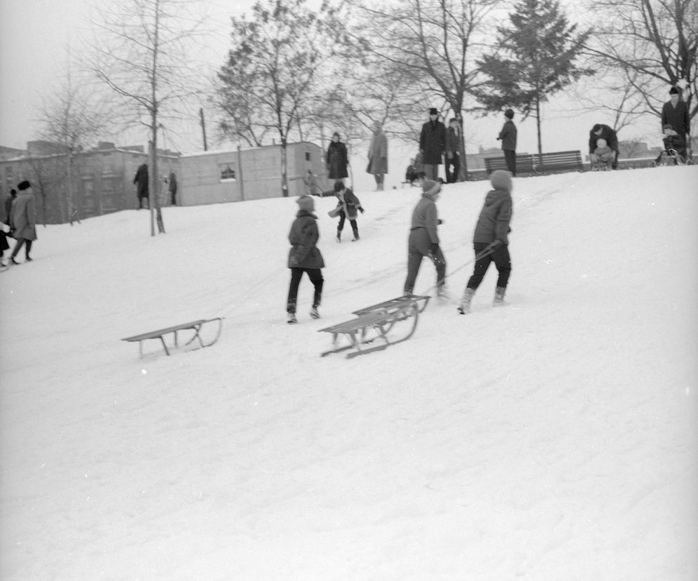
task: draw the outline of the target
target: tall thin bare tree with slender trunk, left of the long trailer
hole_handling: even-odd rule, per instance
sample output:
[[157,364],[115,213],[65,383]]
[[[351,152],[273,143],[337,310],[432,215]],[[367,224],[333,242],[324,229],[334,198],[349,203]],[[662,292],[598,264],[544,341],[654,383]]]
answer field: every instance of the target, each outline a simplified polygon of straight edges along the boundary
[[157,134],[187,100],[201,93],[200,70],[192,58],[202,37],[201,3],[187,0],[124,0],[100,13],[98,39],[89,68],[119,98],[126,126],[145,126],[149,137],[151,235],[165,232],[160,208]]

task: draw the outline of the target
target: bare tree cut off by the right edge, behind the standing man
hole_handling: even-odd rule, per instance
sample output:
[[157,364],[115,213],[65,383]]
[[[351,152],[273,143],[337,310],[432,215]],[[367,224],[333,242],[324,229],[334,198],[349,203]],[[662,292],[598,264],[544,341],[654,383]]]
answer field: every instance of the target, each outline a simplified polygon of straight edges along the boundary
[[586,46],[588,54],[621,72],[636,100],[657,116],[666,88],[682,87],[693,119],[698,113],[698,2],[592,0],[590,5],[598,23]]

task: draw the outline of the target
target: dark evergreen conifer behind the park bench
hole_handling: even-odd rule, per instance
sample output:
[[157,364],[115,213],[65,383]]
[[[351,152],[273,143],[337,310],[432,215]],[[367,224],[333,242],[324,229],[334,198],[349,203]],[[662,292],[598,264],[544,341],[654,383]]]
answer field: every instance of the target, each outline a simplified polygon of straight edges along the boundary
[[574,60],[589,32],[577,32],[560,10],[558,0],[522,0],[499,27],[496,50],[478,61],[486,80],[475,97],[487,112],[518,109],[523,119],[534,116],[541,144],[541,103],[591,70]]

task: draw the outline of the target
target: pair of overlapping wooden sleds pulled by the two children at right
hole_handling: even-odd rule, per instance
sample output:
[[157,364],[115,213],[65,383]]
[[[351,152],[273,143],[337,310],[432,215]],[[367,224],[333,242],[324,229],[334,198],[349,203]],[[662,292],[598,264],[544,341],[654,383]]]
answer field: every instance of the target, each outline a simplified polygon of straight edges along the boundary
[[[352,358],[407,341],[414,335],[419,313],[426,309],[429,299],[428,296],[407,295],[354,311],[355,319],[320,329],[321,333],[332,334],[332,349],[320,356],[353,349],[347,354]],[[371,345],[376,340],[382,343]]]

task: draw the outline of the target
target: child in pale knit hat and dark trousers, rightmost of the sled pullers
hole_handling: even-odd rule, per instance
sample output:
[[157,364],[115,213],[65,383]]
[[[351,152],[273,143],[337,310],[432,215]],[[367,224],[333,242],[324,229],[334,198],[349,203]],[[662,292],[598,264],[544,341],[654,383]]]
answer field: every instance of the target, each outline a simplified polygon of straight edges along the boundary
[[492,305],[499,307],[504,304],[504,292],[511,273],[511,258],[509,257],[508,233],[511,232],[509,223],[513,213],[511,203],[511,173],[504,170],[496,170],[489,176],[492,188],[485,196],[485,205],[482,206],[478,223],[475,225],[473,235],[473,248],[475,250],[475,269],[470,276],[463,298],[458,307],[458,312],[467,314],[470,312],[470,301],[473,300],[475,291],[485,278],[485,273],[491,262],[494,262],[499,278],[494,291]]

